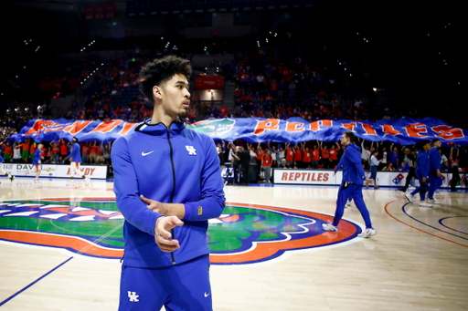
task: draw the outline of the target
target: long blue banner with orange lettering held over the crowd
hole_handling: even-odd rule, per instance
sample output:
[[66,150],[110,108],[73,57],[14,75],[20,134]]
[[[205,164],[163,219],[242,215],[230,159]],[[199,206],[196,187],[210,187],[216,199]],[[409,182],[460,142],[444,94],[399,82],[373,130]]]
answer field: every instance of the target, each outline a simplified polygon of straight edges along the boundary
[[[121,119],[110,121],[72,121],[68,119],[33,119],[13,140],[30,137],[36,141],[52,141],[61,138],[80,141],[112,141],[132,131],[137,123]],[[438,138],[444,145],[455,143],[468,145],[468,132],[440,119],[390,119],[377,122],[322,119],[314,122],[301,118],[290,119],[207,119],[187,128],[206,133],[214,140],[248,142],[281,141],[298,143],[306,140],[340,140],[343,132],[352,130],[357,137],[369,141],[386,140],[400,145],[412,145],[420,140]]]

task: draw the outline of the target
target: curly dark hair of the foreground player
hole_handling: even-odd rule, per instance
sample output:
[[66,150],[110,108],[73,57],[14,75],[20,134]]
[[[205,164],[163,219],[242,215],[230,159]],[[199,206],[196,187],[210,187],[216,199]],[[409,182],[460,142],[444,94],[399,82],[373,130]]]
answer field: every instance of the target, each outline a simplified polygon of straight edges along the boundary
[[153,88],[154,86],[161,86],[174,75],[180,74],[189,79],[192,76],[192,66],[188,59],[176,56],[167,56],[163,58],[156,58],[154,61],[147,63],[139,76],[139,89],[143,95],[154,102]]

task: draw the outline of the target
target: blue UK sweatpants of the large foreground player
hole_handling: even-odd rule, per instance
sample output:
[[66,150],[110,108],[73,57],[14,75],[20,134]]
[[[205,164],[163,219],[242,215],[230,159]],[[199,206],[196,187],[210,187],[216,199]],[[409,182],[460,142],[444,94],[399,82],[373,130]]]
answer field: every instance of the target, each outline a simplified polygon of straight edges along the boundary
[[209,255],[162,268],[122,264],[119,310],[212,311]]

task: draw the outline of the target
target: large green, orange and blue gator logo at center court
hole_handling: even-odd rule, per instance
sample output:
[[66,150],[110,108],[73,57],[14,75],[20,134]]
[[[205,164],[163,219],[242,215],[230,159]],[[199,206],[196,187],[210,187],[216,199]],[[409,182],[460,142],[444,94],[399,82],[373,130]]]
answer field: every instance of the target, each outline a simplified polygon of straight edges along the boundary
[[[254,264],[287,252],[343,244],[361,228],[342,220],[338,233],[324,232],[333,216],[246,203],[226,203],[209,221],[212,264]],[[120,259],[123,217],[112,198],[0,202],[0,240],[66,249],[75,254]]]

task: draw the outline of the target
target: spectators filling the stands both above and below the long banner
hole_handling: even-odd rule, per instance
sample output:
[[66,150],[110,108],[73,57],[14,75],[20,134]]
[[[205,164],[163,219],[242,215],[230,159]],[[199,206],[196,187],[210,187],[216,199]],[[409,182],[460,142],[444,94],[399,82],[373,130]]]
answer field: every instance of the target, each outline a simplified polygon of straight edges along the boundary
[[[236,47],[238,53],[234,55],[237,58],[229,63],[217,64],[219,74],[224,75],[227,81],[235,85],[234,107],[208,105],[206,111],[200,114],[200,111],[197,111],[197,101],[193,101],[193,108],[186,122],[227,117],[276,119],[301,117],[310,121],[317,119],[376,121],[399,118],[423,119],[429,116],[429,110],[420,106],[404,110],[393,109],[390,105],[378,105],[369,100],[365,100],[369,103],[364,104],[356,97],[356,93],[351,91],[356,86],[351,79],[346,78],[341,63],[336,62],[334,55],[323,49],[304,56],[296,53],[293,47],[290,47],[286,53],[282,47],[288,47],[289,43],[278,42],[277,45],[271,44],[257,50]],[[154,57],[169,53],[177,52],[170,50],[148,52],[133,49],[114,59],[101,59],[97,55],[84,54],[85,57],[80,62],[45,60],[37,62],[41,66],[37,68],[37,71],[41,72],[38,78],[78,78],[84,81],[85,78],[91,77],[90,85],[83,89],[83,102],[75,101],[71,109],[60,117],[72,120],[123,119],[129,122],[141,122],[152,116],[153,107],[138,90],[139,70]],[[44,64],[52,63],[56,66],[43,68]],[[215,61],[212,63],[215,64]],[[96,67],[99,67],[98,72],[90,75]],[[28,70],[33,69],[34,67],[28,68]],[[194,67],[194,76],[201,71],[203,68]],[[364,79],[366,78],[365,73]],[[66,89],[64,93],[67,94]],[[441,114],[437,117],[443,119],[444,116],[446,114],[441,109]],[[7,161],[30,162],[28,157],[23,155],[18,157],[15,152],[21,149],[22,152],[28,151],[32,154],[34,151],[31,150],[35,148],[36,143],[30,141],[29,145],[25,145],[25,142],[16,142],[9,138],[18,133],[29,120],[37,118],[52,119],[46,104],[38,109],[27,104],[22,109],[8,109],[5,115],[0,116],[0,141],[4,158],[9,157]],[[468,128],[466,119],[451,115],[445,120],[452,126]],[[110,164],[111,143],[80,142],[80,144],[83,163]],[[248,144],[239,140],[235,144],[248,151],[251,164],[256,163],[258,167],[265,164],[263,155],[270,153],[271,160],[266,164],[270,164],[273,168],[334,169],[343,152],[338,142],[304,141],[298,145],[291,145],[276,142]],[[396,146],[388,142],[372,143],[362,140],[359,144],[363,150],[363,165],[367,169],[374,151],[378,151],[379,170],[409,171],[409,162],[416,152],[414,146]],[[221,163],[229,162],[235,166],[236,158],[233,156],[236,153],[235,145],[221,142],[219,147]],[[446,161],[448,164],[444,165],[451,166],[449,156],[451,153],[456,153],[453,158],[459,158],[463,170],[467,168],[468,148],[456,147],[456,152],[451,152],[451,148],[441,150],[448,160]],[[44,163],[65,163],[64,156],[67,152],[69,152],[68,141],[45,142]],[[268,156],[266,158],[268,160]]]

